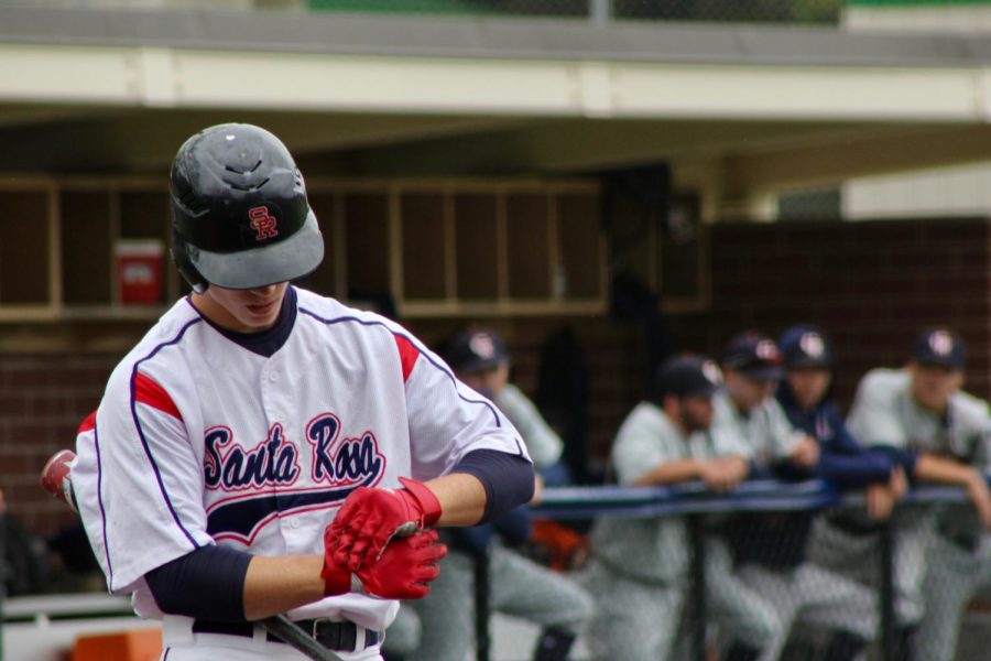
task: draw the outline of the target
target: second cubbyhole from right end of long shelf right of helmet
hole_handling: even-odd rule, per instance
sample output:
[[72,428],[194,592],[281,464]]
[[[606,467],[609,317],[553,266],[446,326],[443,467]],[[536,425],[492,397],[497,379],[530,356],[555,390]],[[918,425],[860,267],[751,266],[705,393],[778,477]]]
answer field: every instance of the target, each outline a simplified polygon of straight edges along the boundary
[[507,199],[511,299],[551,296],[549,223],[546,195],[518,194]]

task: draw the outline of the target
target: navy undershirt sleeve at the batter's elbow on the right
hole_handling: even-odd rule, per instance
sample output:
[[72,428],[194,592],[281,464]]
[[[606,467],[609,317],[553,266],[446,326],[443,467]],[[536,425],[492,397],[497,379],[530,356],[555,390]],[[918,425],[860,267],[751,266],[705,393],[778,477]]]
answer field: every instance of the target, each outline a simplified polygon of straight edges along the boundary
[[487,523],[533,498],[533,464],[526,458],[498,449],[475,449],[465,455],[451,473],[473,475],[486,489]]

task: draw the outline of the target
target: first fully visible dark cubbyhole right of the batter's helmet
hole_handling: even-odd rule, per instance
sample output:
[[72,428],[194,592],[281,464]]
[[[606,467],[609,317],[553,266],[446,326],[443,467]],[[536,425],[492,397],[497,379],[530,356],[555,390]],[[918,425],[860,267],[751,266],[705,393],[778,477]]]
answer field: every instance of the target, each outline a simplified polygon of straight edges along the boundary
[[345,198],[348,297],[379,299],[389,288],[389,195],[348,194]]

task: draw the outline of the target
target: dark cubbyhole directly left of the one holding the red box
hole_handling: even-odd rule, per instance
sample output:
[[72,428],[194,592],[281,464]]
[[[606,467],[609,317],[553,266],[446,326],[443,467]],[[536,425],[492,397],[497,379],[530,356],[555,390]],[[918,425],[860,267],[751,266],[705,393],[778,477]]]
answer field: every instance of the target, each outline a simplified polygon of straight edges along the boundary
[[67,305],[109,305],[110,195],[107,192],[67,191],[62,209],[62,291]]

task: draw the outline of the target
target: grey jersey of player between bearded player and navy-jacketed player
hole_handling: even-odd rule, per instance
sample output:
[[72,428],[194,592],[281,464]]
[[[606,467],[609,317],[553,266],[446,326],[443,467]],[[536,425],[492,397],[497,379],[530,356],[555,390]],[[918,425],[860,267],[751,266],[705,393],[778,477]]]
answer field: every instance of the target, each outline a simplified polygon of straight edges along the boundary
[[795,443],[804,435],[792,426],[774,398],[743,413],[729,393],[718,392],[712,398],[712,407],[711,434],[723,456],[740,455],[766,465],[792,454]]

